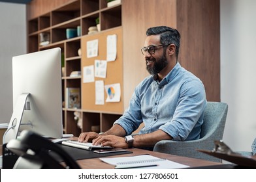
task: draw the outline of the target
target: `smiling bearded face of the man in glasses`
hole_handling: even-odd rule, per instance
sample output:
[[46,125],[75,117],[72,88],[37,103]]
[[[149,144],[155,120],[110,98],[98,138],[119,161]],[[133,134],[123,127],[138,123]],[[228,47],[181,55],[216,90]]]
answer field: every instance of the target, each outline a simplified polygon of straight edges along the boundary
[[165,56],[166,49],[163,46],[157,45],[161,45],[159,35],[152,35],[146,38],[144,47],[154,49],[153,54],[150,54],[148,51],[144,52],[146,69],[152,75],[156,75],[157,73],[161,72],[161,70],[163,70],[163,68],[165,68],[168,64]]

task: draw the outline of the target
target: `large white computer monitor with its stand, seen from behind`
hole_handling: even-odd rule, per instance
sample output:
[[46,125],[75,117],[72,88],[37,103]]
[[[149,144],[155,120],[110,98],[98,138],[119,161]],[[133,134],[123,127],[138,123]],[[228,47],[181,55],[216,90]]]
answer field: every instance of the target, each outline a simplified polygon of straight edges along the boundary
[[62,138],[61,49],[12,58],[13,113],[3,144],[28,129]]

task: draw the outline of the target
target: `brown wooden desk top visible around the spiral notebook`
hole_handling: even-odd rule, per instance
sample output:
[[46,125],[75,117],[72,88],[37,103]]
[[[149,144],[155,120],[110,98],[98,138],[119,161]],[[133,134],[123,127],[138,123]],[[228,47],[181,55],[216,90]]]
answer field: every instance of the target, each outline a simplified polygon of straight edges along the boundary
[[[178,162],[180,164],[185,164],[191,167],[197,167],[197,166],[212,166],[212,165],[218,165],[221,164],[219,162],[211,162],[211,161],[204,161],[201,159],[193,159],[189,157],[181,157],[177,155],[170,155],[167,153],[159,153],[155,151],[148,151],[144,149],[127,149],[129,151],[133,151],[133,153],[124,154],[124,155],[113,155],[110,157],[128,157],[128,156],[134,156],[134,155],[142,155],[142,154],[150,154],[155,157],[168,159],[170,161]],[[110,164],[106,164],[105,162],[101,161],[99,158],[94,159],[83,159],[76,161],[83,169],[114,169],[114,166]]]

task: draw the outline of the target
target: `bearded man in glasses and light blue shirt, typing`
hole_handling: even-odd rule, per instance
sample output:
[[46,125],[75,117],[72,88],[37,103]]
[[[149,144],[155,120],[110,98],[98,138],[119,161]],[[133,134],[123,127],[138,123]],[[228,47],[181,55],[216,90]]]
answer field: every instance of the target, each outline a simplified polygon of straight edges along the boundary
[[[178,62],[180,33],[170,27],[152,27],[141,49],[146,60],[146,77],[135,92],[123,116],[111,129],[99,135],[81,133],[80,142],[114,148],[148,148],[160,140],[196,140],[206,96],[202,82]],[[140,123],[140,135],[132,136]]]

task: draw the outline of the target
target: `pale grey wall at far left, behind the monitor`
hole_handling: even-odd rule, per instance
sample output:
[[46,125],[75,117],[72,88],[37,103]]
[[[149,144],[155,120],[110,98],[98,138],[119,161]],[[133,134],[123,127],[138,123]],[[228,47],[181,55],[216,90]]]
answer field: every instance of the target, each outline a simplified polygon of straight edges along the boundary
[[12,114],[12,57],[26,53],[25,5],[0,3],[0,123]]

